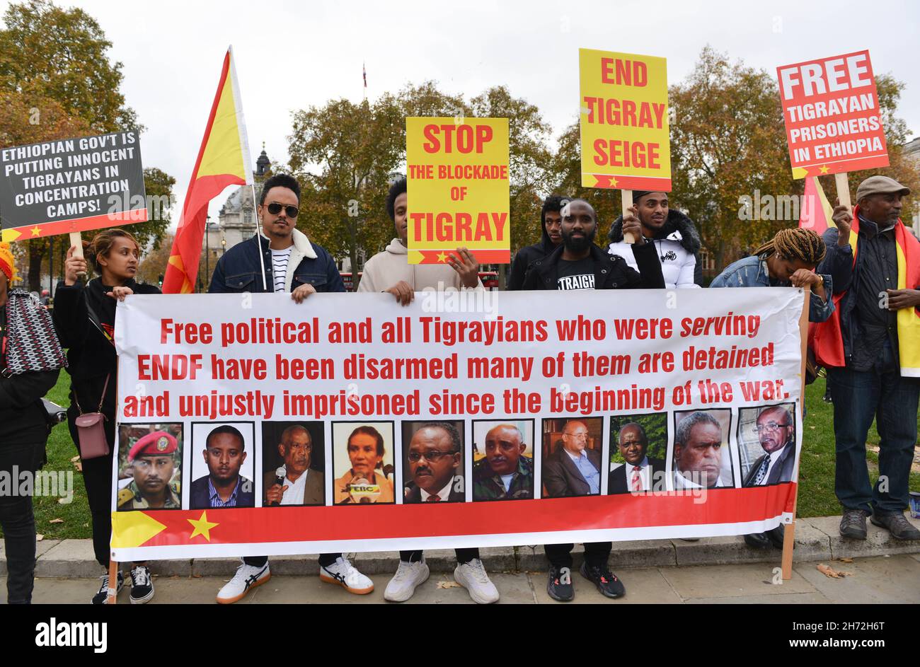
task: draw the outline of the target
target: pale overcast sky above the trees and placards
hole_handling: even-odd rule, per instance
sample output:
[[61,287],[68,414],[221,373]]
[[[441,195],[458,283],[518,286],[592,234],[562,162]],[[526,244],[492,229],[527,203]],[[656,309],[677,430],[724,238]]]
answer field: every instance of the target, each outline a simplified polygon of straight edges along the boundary
[[[111,40],[110,57],[124,63],[122,92],[147,128],[144,166],[176,178],[179,209],[230,44],[253,160],[262,142],[270,158],[287,160],[293,110],[361,100],[362,63],[369,98],[428,79],[467,98],[503,85],[535,104],[556,135],[578,112],[580,47],[663,56],[670,83],[706,44],[771,73],[868,49],[876,73],[906,84],[899,115],[920,132],[916,2],[58,4],[83,7]],[[213,201],[213,220],[229,191]]]

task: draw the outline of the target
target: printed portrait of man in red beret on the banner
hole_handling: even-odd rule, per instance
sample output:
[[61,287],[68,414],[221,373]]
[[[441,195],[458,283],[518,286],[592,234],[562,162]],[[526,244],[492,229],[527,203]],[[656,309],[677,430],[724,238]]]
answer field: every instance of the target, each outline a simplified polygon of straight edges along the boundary
[[128,452],[134,479],[118,492],[120,512],[130,510],[178,510],[181,493],[178,482],[170,483],[178,449],[176,437],[154,431],[137,439]]

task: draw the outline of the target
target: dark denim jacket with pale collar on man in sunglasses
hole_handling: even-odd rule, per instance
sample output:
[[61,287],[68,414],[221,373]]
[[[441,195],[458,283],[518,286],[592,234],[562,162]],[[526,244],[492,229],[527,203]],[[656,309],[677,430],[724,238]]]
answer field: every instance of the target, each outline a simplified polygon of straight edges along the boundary
[[[263,256],[261,262],[259,250]],[[294,229],[285,292],[293,292],[307,283],[312,284],[316,292],[345,292],[345,285],[332,256],[322,247],[311,244],[304,233]],[[208,293],[212,294],[273,291],[271,249],[269,240],[261,235],[253,236],[227,250],[217,260],[211,287],[208,288]]]

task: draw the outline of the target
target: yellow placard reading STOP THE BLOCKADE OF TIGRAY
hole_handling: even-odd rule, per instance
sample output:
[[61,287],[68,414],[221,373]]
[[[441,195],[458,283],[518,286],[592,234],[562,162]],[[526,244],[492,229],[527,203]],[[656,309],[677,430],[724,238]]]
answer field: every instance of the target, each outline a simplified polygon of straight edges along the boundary
[[507,118],[407,118],[408,263],[511,261]]

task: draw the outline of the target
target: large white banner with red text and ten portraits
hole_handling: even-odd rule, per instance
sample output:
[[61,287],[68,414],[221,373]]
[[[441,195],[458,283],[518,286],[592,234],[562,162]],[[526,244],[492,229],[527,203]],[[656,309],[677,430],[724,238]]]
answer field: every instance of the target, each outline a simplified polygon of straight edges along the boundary
[[[606,315],[611,298],[546,292],[535,312],[529,293],[426,291],[405,308],[376,293],[128,297],[112,558],[742,535],[790,521],[803,293],[629,290]],[[642,476],[619,446],[637,424]],[[597,475],[569,483],[580,451]]]

